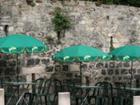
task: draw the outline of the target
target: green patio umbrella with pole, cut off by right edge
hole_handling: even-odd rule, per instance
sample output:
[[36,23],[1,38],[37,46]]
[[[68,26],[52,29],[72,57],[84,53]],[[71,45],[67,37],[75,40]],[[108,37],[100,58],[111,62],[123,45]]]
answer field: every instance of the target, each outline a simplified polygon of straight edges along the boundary
[[133,61],[140,59],[140,46],[125,45],[110,52],[112,59],[121,61],[131,61],[131,86],[133,79]]

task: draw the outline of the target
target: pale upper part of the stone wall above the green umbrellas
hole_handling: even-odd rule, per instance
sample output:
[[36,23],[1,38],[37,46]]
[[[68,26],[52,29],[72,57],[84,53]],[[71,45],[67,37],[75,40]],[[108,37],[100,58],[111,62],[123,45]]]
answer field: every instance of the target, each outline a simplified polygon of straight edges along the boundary
[[[1,35],[4,25],[9,25],[9,33],[26,33],[42,38],[47,35],[56,37],[51,18],[55,7],[68,11],[73,27],[66,32],[64,46],[83,43],[101,48],[109,47],[109,36],[114,36],[115,46],[129,43],[130,37],[139,37],[140,8],[101,5],[79,1],[53,2],[42,0],[34,7],[26,0],[5,0],[1,2]],[[92,39],[92,40],[91,40]],[[137,42],[139,43],[139,42]]]

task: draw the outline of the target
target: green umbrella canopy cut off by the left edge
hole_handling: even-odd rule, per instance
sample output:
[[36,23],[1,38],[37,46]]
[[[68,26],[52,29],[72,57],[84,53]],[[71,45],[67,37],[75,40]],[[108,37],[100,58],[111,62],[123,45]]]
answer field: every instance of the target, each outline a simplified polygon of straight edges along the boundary
[[0,52],[20,54],[24,52],[38,53],[47,51],[48,47],[40,40],[24,34],[12,34],[0,38]]

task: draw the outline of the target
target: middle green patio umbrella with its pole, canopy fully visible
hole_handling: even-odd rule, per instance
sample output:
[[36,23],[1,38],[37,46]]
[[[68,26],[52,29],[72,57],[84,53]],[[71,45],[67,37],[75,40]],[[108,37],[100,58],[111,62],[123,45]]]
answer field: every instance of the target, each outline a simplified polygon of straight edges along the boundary
[[[91,62],[98,59],[105,59],[106,53],[98,48],[93,48],[86,45],[74,45],[66,47],[53,56],[53,60],[58,62]],[[82,72],[80,66],[80,78],[82,79]]]

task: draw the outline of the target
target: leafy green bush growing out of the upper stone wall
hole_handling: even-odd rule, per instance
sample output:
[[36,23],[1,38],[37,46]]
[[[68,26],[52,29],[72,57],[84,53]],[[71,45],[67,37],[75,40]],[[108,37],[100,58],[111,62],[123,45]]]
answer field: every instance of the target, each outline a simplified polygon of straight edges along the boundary
[[54,11],[54,18],[52,18],[52,23],[54,25],[54,31],[62,32],[71,27],[70,18],[64,14],[61,8],[56,8]]

